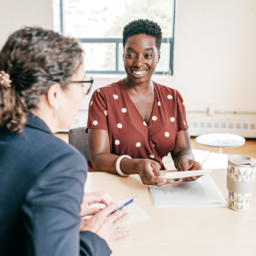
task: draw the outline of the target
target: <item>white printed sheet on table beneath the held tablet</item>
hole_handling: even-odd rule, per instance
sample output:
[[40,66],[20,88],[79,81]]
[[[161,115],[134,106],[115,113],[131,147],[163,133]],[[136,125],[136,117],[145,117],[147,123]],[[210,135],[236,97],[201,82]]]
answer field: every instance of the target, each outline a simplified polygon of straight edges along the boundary
[[225,207],[227,201],[210,174],[196,181],[148,186],[154,207]]

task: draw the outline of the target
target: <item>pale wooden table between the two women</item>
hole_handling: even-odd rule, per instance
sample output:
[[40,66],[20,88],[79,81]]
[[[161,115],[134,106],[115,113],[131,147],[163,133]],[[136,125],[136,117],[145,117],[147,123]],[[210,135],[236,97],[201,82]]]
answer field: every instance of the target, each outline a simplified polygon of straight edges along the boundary
[[[225,177],[226,169],[212,172],[212,178],[228,200]],[[106,191],[114,200],[139,195],[137,205],[151,217],[120,228],[132,230],[133,235],[111,244],[113,256],[256,255],[255,190],[247,212],[236,212],[229,207],[153,207],[148,186],[143,185],[137,175],[119,177],[90,172],[85,191]]]

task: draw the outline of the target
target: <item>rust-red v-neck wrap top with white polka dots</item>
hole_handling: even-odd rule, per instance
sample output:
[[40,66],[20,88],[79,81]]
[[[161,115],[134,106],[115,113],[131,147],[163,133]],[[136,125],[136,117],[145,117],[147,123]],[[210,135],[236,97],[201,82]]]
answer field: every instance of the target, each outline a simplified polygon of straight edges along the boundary
[[[111,154],[155,160],[164,170],[162,158],[175,147],[177,132],[189,126],[177,90],[154,83],[154,106],[147,124],[119,81],[91,96],[88,128],[108,131]],[[93,171],[90,160],[89,167]]]

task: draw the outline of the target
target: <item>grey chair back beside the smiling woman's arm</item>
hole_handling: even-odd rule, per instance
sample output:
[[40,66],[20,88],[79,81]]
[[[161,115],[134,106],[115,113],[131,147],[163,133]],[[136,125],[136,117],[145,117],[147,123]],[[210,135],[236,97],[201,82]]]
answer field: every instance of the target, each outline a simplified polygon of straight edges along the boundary
[[85,130],[86,127],[70,129],[68,131],[68,142],[84,154],[86,160],[89,160],[88,134]]

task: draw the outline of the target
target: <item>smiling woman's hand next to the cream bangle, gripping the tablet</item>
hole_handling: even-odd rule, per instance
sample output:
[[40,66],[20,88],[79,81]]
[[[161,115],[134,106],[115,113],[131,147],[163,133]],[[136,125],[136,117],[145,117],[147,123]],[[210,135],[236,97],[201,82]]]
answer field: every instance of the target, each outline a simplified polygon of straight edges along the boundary
[[145,185],[162,186],[171,183],[171,179],[160,177],[160,165],[154,160],[138,159],[135,169]]

